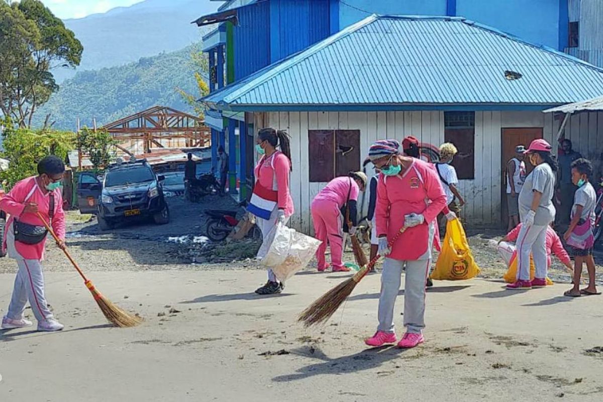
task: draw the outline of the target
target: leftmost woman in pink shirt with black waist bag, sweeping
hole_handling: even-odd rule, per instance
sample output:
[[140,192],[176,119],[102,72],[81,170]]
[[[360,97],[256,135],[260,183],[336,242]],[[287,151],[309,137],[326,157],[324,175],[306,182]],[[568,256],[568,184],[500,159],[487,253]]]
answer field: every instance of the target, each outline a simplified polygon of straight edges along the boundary
[[[7,230],[4,233],[3,250],[17,260],[19,270],[14,280],[13,297],[8,311],[2,319],[2,328],[23,328],[33,323],[24,318],[25,303],[30,302],[31,310],[37,319],[39,331],[58,331],[63,329],[48,309],[44,294],[42,260],[46,237],[38,243],[25,243],[15,239],[13,225],[28,224],[42,227],[37,213],[49,222],[60,242],[58,247],[65,248],[65,212],[60,189],[65,165],[55,156],[45,157],[37,166],[39,175],[26,178],[15,184],[12,190],[0,199],[0,209],[10,214]],[[24,231],[23,228],[20,230]],[[17,236],[18,237],[18,236]]]

